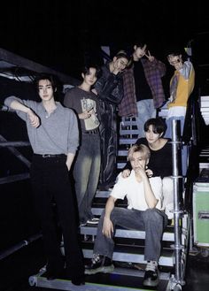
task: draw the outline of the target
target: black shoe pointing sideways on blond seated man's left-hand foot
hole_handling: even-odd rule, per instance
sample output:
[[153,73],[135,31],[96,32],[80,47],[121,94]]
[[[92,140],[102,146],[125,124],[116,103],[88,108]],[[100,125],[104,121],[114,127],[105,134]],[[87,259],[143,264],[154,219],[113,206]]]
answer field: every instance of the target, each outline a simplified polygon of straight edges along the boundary
[[85,265],[86,275],[97,274],[97,272],[107,273],[112,272],[113,270],[114,265],[112,264],[112,260],[109,257],[104,257],[97,254],[93,256],[89,265]]

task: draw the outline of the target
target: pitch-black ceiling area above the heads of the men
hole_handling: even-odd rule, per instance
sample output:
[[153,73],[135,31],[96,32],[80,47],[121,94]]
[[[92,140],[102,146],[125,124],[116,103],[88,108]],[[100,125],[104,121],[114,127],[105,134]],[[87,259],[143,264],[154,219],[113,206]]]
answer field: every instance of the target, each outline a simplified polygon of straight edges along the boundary
[[0,48],[77,77],[88,59],[102,62],[101,45],[130,50],[143,35],[160,58],[190,40],[203,56],[207,14],[205,1],[19,0],[1,9]]

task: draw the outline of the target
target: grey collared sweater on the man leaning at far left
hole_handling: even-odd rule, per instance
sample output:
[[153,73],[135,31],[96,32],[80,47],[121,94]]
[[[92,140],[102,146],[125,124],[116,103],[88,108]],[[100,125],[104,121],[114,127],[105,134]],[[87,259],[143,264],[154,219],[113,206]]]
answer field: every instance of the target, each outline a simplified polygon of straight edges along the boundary
[[15,96],[7,97],[4,104],[10,107],[13,100],[18,100],[31,108],[41,119],[41,125],[35,128],[30,125],[26,113],[16,111],[19,117],[27,123],[27,134],[35,154],[58,155],[76,152],[79,145],[79,131],[74,111],[57,102],[56,110],[48,116],[42,102],[22,100]]

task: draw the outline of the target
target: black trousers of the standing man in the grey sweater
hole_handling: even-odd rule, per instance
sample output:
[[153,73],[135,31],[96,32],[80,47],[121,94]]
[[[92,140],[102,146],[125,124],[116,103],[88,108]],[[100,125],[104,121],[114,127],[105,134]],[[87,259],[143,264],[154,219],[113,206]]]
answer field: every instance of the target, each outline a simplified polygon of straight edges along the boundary
[[31,182],[35,211],[41,222],[50,271],[58,271],[58,266],[63,264],[54,215],[53,204],[55,203],[64,237],[66,272],[72,279],[82,277],[84,265],[78,240],[76,209],[66,167],[66,156],[34,155],[31,165]]

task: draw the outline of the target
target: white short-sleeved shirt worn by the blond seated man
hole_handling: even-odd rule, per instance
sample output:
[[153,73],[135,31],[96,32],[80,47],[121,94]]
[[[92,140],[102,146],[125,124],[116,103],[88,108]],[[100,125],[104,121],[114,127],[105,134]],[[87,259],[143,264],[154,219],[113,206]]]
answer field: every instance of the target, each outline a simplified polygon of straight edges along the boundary
[[[161,209],[162,202],[162,180],[160,177],[150,178],[151,189],[159,200],[156,208]],[[145,211],[148,205],[144,197],[143,181],[138,182],[135,179],[135,172],[132,170],[128,178],[122,178],[121,173],[118,176],[118,181],[114,185],[110,194],[113,198],[124,199],[127,196],[128,209],[136,209],[138,211]]]

